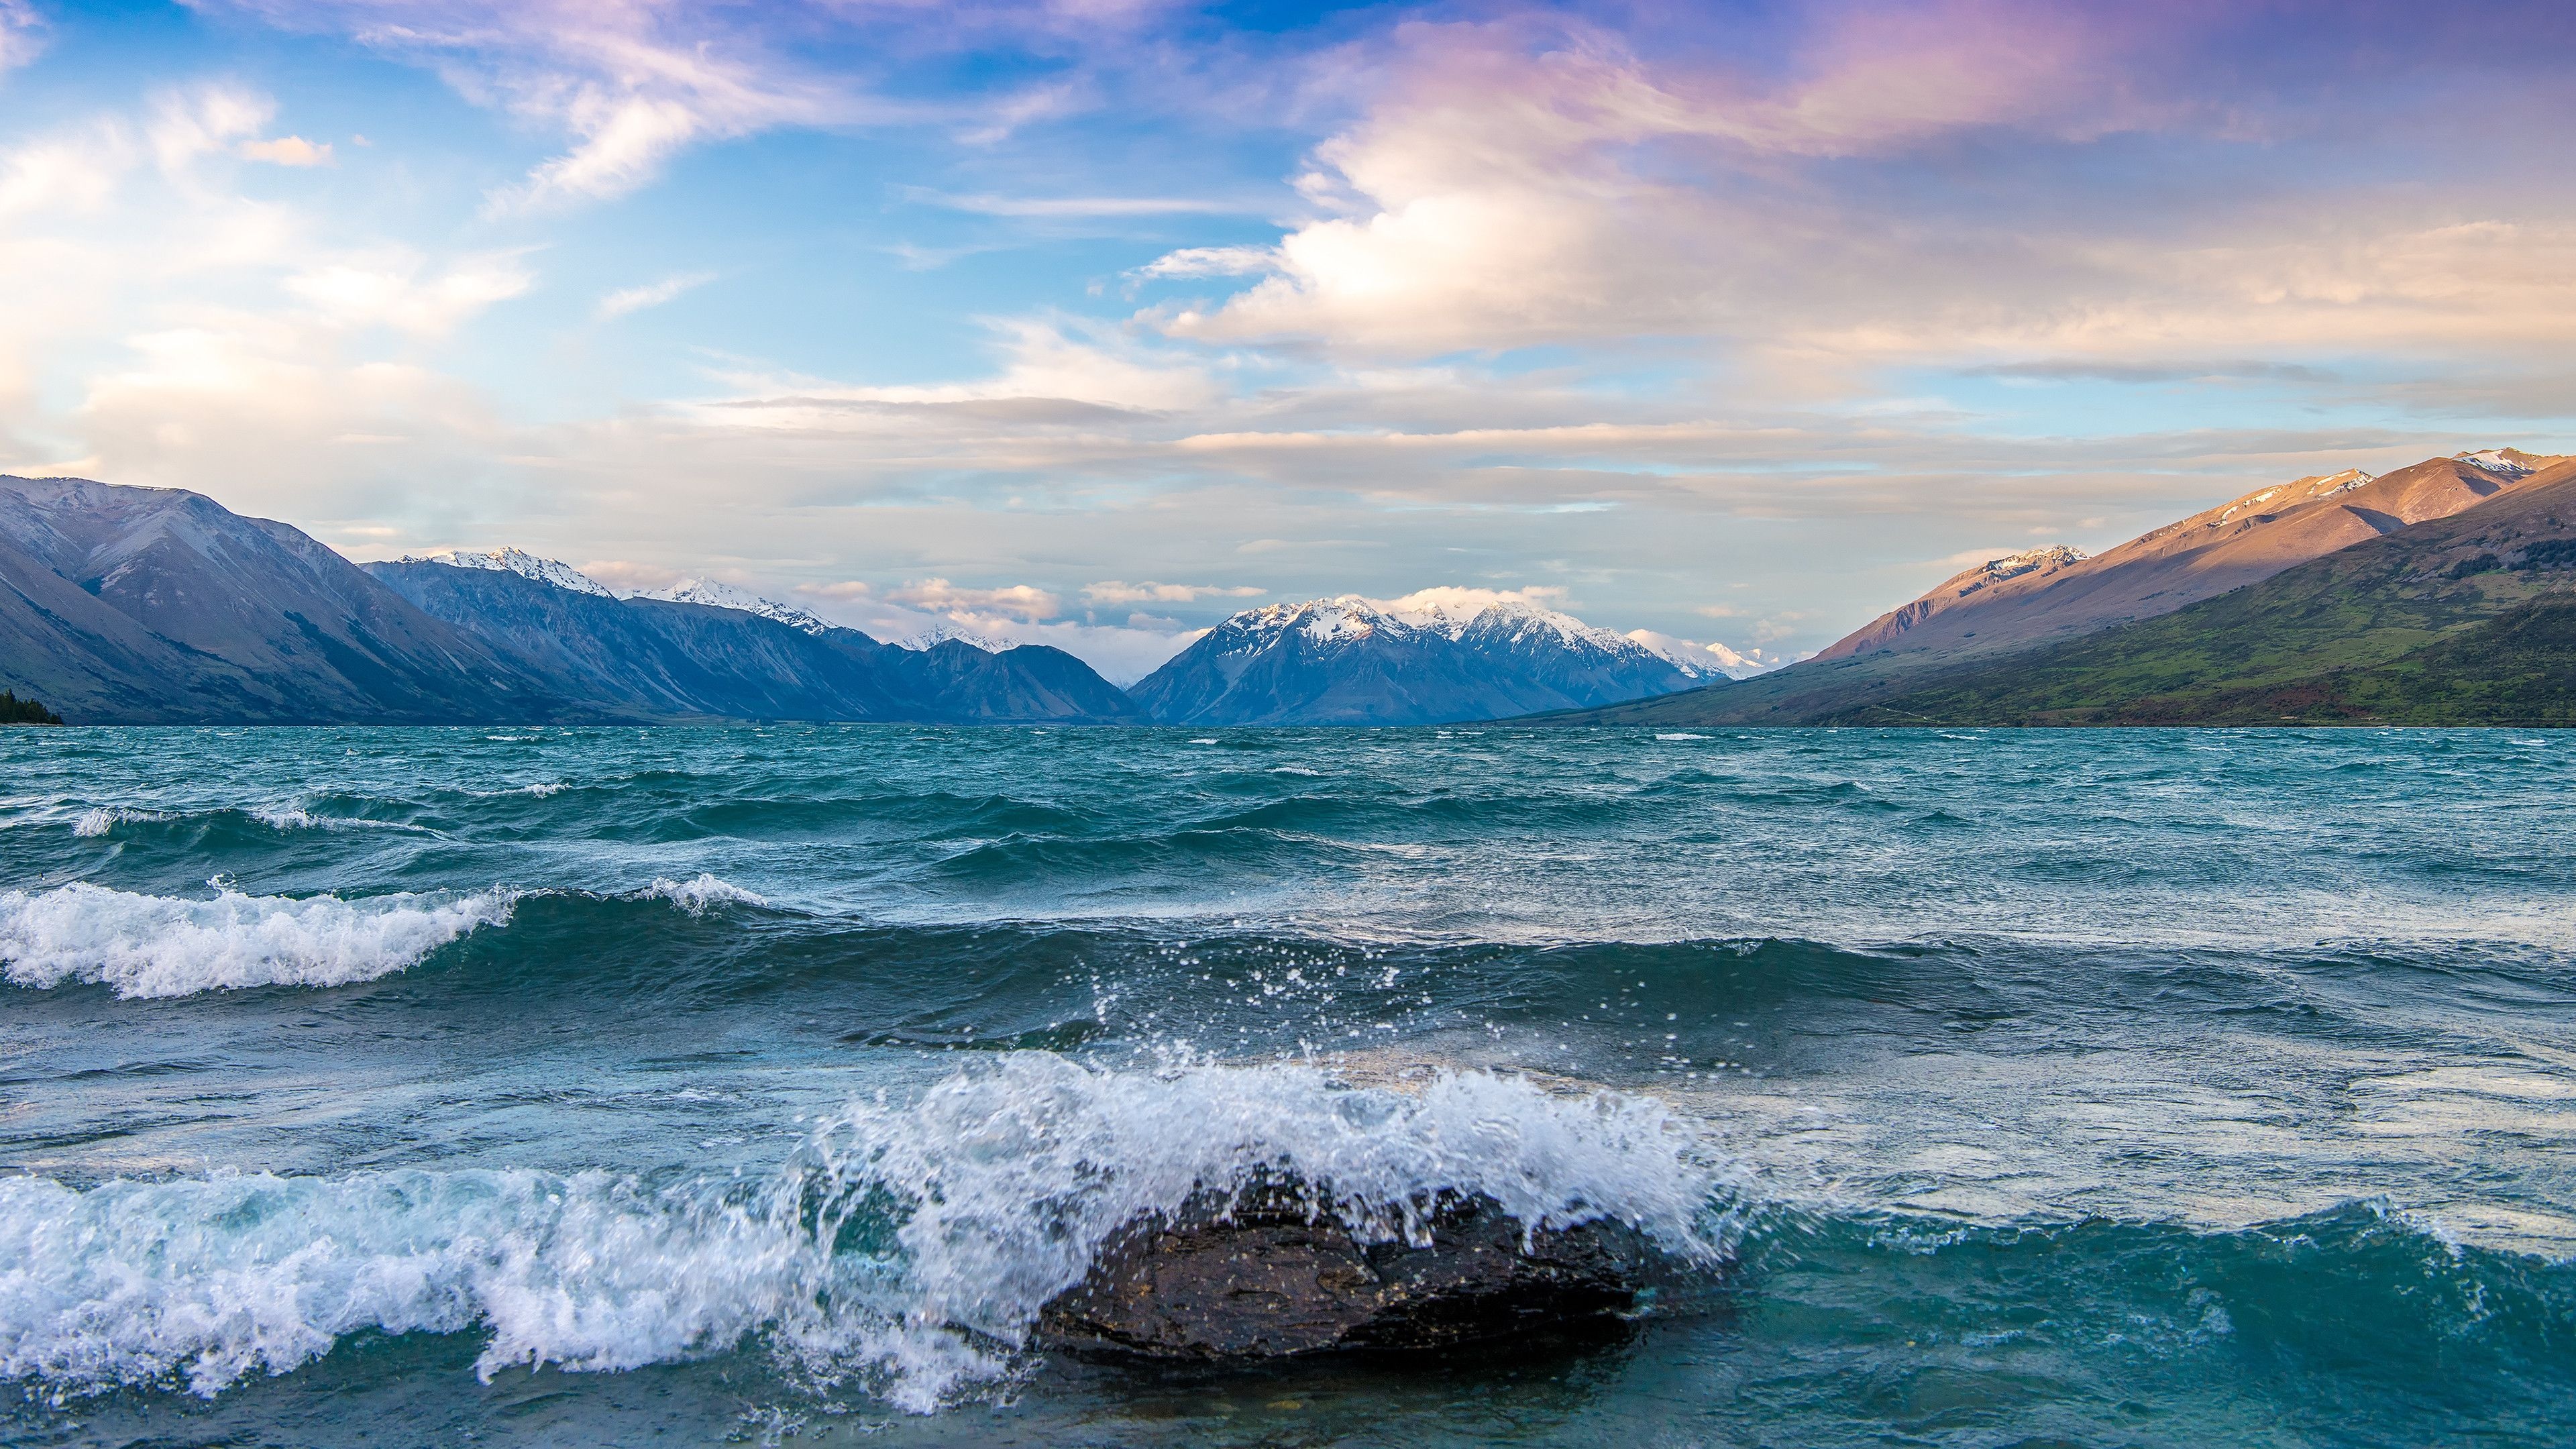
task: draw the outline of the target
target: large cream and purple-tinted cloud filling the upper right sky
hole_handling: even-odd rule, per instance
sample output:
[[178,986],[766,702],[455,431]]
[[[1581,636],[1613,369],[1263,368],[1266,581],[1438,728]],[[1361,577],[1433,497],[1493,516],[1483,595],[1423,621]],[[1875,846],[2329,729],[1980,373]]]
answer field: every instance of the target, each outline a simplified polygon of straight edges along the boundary
[[[1311,152],[1306,219],[1131,271],[1257,281],[1139,322],[1373,358],[1687,338],[1808,397],[1875,366],[2334,371],[2550,345],[2543,320],[2576,304],[2561,191],[2339,180],[2391,165],[2458,77],[2383,77],[2424,111],[2293,157],[2272,131],[2300,106],[2210,85],[2210,52],[2244,44],[2223,15],[1806,8],[1767,75],[1566,21],[1401,26],[1383,85]],[[2107,150],[2120,134],[2151,139]],[[2246,134],[2275,144],[2262,168]],[[2172,188],[2154,214],[2110,186],[2141,147]]]

